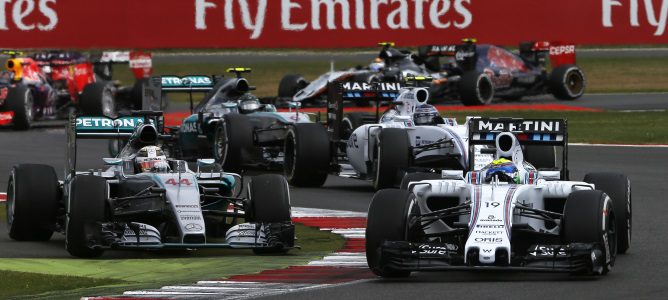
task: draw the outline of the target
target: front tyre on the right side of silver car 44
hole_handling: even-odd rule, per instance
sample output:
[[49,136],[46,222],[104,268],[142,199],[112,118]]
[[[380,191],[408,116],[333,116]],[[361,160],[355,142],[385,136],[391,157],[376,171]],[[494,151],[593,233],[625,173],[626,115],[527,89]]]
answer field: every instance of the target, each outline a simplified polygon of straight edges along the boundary
[[[248,184],[249,220],[257,223],[290,222],[290,192],[285,177],[276,174],[255,176]],[[253,249],[255,254],[282,254],[282,246]]]

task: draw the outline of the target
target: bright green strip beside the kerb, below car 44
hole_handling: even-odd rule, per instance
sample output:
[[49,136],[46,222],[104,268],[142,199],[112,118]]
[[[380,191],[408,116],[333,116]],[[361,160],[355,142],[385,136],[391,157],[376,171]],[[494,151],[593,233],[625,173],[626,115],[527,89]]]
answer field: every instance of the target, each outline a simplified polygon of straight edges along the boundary
[[[0,211],[4,209],[4,204],[0,204]],[[0,221],[5,222],[4,217]],[[0,299],[72,299],[259,273],[319,259],[345,242],[339,235],[299,224],[296,235],[302,249],[277,256],[257,256],[250,250],[208,249],[137,252],[134,259],[0,258],[0,274],[22,272],[20,276],[0,277]]]

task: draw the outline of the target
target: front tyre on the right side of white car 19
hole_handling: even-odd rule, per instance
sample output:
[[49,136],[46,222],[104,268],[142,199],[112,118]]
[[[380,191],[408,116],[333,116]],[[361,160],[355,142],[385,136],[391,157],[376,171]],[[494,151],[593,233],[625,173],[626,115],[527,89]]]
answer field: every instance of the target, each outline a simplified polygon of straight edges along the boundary
[[615,209],[608,195],[602,191],[575,191],[568,195],[561,230],[565,243],[593,243],[600,251],[600,266],[591,270],[594,274],[604,275],[612,270],[618,235]]

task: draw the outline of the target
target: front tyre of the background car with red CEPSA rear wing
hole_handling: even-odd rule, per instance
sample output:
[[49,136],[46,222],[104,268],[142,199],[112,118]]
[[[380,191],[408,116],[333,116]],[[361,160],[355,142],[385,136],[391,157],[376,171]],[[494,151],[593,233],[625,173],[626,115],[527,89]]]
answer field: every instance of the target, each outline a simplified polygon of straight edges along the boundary
[[494,84],[489,75],[469,71],[462,75],[459,82],[459,96],[462,103],[467,106],[486,105],[494,99]]

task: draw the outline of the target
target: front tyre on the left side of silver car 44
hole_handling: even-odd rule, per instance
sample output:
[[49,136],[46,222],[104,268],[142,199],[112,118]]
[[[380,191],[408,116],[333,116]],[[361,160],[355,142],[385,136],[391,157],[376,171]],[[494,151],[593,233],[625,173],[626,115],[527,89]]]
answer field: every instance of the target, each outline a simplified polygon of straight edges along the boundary
[[99,257],[104,250],[89,247],[89,235],[98,222],[105,220],[107,181],[98,176],[79,175],[72,182],[71,193],[65,226],[67,252],[81,258]]

